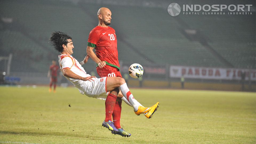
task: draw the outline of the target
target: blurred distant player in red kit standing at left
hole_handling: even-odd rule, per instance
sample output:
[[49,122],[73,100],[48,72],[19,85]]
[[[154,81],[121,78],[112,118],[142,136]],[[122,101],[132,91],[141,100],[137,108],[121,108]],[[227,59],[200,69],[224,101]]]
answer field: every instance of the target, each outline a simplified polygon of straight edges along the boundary
[[57,81],[58,81],[58,71],[59,71],[59,67],[56,65],[56,61],[53,60],[52,61],[52,65],[49,68],[47,77],[51,76],[50,79],[50,88],[49,88],[49,93],[51,92],[51,87],[53,85],[53,92],[56,92],[56,85],[57,85]]

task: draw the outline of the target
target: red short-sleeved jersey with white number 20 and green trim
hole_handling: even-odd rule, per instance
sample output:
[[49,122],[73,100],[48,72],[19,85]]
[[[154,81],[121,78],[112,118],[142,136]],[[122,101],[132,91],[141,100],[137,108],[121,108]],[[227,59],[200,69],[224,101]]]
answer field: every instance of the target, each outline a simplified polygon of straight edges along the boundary
[[117,51],[117,37],[112,27],[96,26],[91,30],[87,46],[95,47],[95,53],[101,61],[108,65],[120,67]]

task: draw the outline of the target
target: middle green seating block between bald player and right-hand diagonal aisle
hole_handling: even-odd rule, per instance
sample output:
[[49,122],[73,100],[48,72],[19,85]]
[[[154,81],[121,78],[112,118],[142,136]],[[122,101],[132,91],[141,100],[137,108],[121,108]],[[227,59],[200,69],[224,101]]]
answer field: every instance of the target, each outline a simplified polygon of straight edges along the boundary
[[[89,9],[87,11],[91,12],[95,11],[96,7],[99,6],[86,4],[84,9]],[[113,6],[108,7],[111,9]],[[115,17],[113,25],[119,31],[118,33],[122,34],[121,41],[130,42],[147,58],[152,59],[155,64],[223,66],[200,43],[188,41],[177,29],[178,23],[175,20],[168,19],[168,15],[159,15],[159,11],[163,11],[162,9],[133,7],[131,11],[126,6],[112,9],[113,14],[115,11],[116,13],[125,11],[125,13],[113,16]],[[148,21],[141,17],[146,17]],[[170,28],[166,30],[159,25]],[[119,53],[122,53],[122,50],[119,49]],[[129,58],[126,60],[129,61]]]

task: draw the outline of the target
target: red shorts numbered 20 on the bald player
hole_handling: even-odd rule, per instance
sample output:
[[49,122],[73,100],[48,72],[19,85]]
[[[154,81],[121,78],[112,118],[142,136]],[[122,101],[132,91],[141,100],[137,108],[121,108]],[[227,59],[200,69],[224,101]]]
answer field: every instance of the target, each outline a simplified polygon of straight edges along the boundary
[[113,66],[106,65],[102,68],[97,67],[96,70],[97,70],[98,75],[101,78],[102,77],[121,77],[122,78],[120,71],[116,67],[113,67]]

